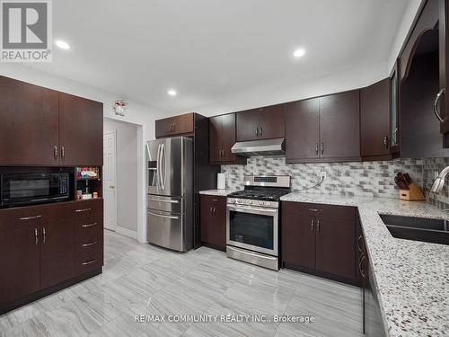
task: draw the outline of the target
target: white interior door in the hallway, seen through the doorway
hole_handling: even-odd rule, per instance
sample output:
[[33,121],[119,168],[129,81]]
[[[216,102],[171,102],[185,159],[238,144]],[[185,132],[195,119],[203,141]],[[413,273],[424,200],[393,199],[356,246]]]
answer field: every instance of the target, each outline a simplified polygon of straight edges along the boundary
[[103,135],[104,227],[114,231],[117,226],[116,139],[116,131]]

